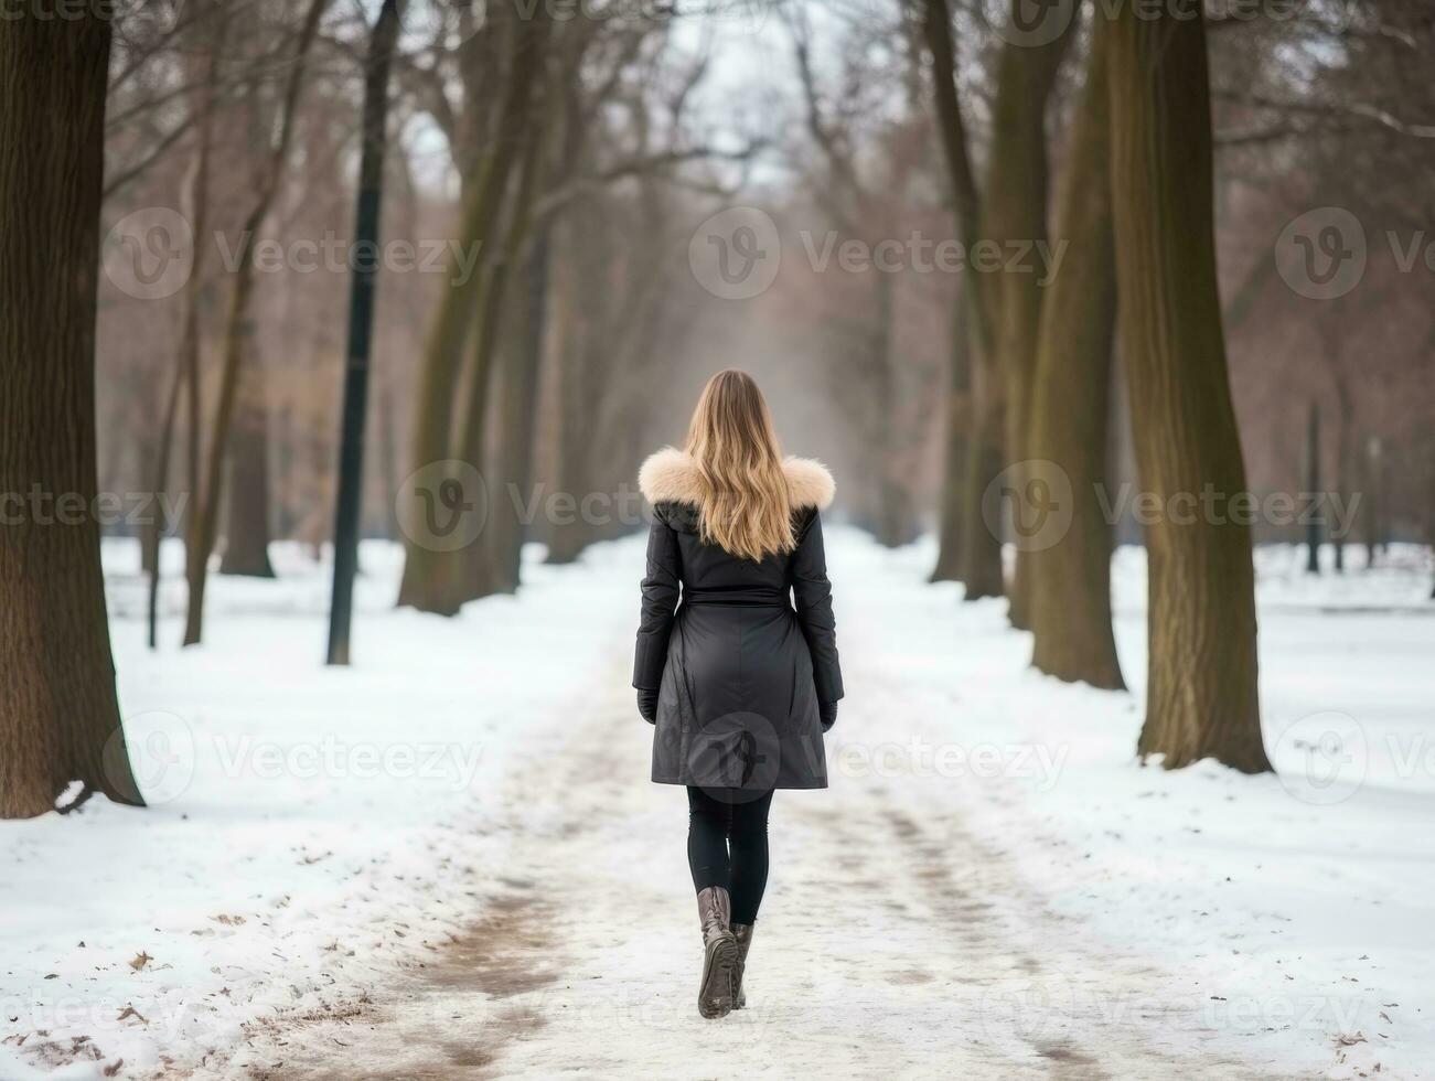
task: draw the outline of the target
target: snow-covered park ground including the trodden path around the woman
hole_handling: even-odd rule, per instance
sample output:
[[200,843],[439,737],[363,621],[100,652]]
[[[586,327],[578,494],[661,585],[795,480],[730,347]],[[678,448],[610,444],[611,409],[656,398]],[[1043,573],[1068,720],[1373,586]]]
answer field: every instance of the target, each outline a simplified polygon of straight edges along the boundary
[[1132,693],[1033,673],[933,554],[831,530],[832,788],[775,801],[752,1003],[703,1022],[684,802],[627,691],[641,540],[452,622],[366,546],[347,670],[297,548],[214,579],[194,650],[171,573],[155,655],[109,546],[152,805],[0,824],[0,1078],[1435,1072],[1425,553],[1258,553],[1279,778],[1134,761],[1138,550]]

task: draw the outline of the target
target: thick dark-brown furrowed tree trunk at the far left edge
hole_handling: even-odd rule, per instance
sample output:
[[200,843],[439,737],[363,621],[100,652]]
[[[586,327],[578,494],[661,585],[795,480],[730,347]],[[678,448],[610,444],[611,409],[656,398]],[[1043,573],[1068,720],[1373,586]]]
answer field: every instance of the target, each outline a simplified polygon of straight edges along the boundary
[[72,781],[142,804],[92,514],[109,43],[105,19],[0,23],[3,818],[44,814]]

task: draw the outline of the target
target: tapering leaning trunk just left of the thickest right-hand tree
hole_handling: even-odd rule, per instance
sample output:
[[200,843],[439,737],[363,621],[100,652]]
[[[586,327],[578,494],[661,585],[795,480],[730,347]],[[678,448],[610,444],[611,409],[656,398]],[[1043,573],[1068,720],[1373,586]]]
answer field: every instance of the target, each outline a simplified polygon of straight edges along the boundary
[[[1060,185],[1056,243],[1066,244],[1066,256],[1042,304],[1027,434],[1032,458],[1050,464],[1039,468],[1065,472],[1072,517],[1062,535],[1039,531],[1033,537],[1027,570],[1032,665],[1059,679],[1122,688],[1111,630],[1112,524],[1098,498],[1098,485],[1106,479],[1116,317],[1106,29],[1098,23],[1092,39]],[[1065,490],[1060,498],[1068,498]]]

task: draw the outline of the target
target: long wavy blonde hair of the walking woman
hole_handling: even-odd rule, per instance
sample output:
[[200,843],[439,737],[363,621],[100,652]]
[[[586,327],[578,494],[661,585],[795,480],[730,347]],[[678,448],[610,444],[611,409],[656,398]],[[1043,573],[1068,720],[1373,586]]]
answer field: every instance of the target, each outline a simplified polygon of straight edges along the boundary
[[792,497],[782,448],[751,375],[728,369],[707,380],[684,449],[700,478],[697,528],[705,541],[756,563],[792,551]]

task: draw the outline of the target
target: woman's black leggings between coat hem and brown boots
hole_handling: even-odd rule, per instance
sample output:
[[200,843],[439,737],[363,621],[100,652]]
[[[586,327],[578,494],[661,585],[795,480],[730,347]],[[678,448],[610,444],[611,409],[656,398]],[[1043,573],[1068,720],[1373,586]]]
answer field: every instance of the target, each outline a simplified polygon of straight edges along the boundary
[[755,923],[768,886],[771,790],[687,787],[687,866],[693,889],[722,886],[732,896],[732,922]]

